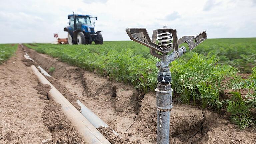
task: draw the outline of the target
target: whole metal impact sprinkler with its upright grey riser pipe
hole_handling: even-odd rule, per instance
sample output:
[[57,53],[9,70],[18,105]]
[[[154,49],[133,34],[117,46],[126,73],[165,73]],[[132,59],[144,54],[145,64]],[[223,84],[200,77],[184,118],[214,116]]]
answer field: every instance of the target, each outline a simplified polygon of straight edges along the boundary
[[[178,39],[176,29],[156,29],[152,40],[145,28],[127,28],[126,32],[131,40],[150,48],[150,53],[160,59],[156,63],[157,73],[156,108],[157,108],[157,144],[169,144],[170,111],[172,110],[171,72],[169,64],[186,52],[186,48],[179,45],[186,42],[189,50],[194,49],[206,38],[203,31],[195,36],[183,36]],[[170,53],[170,54],[169,54]]]

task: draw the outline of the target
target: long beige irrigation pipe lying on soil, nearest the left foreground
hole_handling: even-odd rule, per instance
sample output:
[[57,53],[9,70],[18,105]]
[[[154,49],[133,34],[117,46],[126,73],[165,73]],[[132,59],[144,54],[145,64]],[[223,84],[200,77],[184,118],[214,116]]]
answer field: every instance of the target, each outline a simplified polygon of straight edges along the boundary
[[61,105],[62,112],[75,126],[80,137],[87,144],[111,144],[39,71],[32,65],[32,71],[42,84],[51,86],[49,99]]

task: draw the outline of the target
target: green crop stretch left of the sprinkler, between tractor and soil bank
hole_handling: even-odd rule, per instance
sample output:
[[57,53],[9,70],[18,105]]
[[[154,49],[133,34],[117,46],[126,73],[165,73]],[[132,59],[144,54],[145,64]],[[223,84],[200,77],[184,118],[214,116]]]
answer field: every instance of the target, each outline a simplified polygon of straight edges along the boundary
[[[121,42],[116,42],[121,44]],[[120,46],[108,45],[54,45],[54,44],[25,44],[40,53],[46,53],[57,57],[63,62],[96,71],[110,79],[131,84],[135,88],[144,91],[154,91],[156,87],[157,68],[155,58],[146,58],[149,52],[138,54],[136,43],[124,42]],[[131,46],[132,48],[128,48]],[[140,46],[140,45],[139,45]],[[134,47],[134,48],[133,48]],[[145,47],[140,46],[143,50]],[[145,48],[148,50],[147,48]],[[137,53],[136,53],[137,51]]]

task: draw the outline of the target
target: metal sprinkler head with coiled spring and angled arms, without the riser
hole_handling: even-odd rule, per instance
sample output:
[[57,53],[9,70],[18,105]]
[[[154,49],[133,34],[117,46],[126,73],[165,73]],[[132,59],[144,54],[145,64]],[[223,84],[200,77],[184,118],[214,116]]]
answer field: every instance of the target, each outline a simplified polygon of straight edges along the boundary
[[[192,50],[207,38],[206,32],[203,31],[194,36],[183,36],[178,39],[176,29],[169,28],[154,30],[152,39],[145,28],[127,28],[126,32],[131,40],[149,47],[151,55],[159,59],[169,52],[179,54],[179,45],[184,42],[188,44],[189,50]],[[186,52],[185,47],[180,48]]]

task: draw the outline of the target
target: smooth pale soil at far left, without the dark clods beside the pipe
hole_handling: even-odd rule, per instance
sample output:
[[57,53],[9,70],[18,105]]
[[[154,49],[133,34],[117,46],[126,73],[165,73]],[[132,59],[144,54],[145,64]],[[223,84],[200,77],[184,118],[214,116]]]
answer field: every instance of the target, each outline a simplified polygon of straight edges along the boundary
[[47,105],[33,87],[37,78],[22,63],[20,48],[15,56],[0,65],[0,143],[32,144],[52,139],[43,123]]

